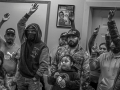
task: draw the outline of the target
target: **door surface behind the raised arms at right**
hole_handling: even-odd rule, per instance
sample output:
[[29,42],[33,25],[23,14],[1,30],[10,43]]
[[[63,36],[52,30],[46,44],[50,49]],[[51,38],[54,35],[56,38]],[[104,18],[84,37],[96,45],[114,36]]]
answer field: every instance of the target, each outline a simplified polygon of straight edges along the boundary
[[[120,11],[116,11],[113,19],[116,21],[117,28],[120,32],[120,13],[119,12]],[[102,42],[105,42],[105,37],[102,37],[102,35],[105,35],[108,29],[107,27],[108,13],[109,13],[109,10],[94,10],[93,11],[93,24],[92,24],[91,32],[93,32],[93,30],[99,25],[101,26],[98,36],[96,38],[96,43],[98,43],[98,45]]]

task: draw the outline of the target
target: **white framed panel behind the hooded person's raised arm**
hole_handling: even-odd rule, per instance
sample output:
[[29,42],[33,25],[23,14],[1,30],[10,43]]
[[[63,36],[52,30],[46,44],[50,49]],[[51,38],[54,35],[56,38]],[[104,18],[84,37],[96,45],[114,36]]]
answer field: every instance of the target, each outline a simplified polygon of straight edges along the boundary
[[[2,20],[2,17],[5,13],[10,13],[10,19],[1,27],[0,35],[2,37],[4,37],[7,28],[14,28],[16,30],[15,42],[20,45],[17,32],[17,23],[27,12],[29,12],[31,5],[32,3],[0,3],[0,20]],[[41,11],[42,13],[40,14]],[[29,18],[26,23],[26,26],[30,23],[37,23],[40,25],[43,33],[42,40],[44,40],[45,34],[46,12],[47,4],[39,4],[38,10]]]

